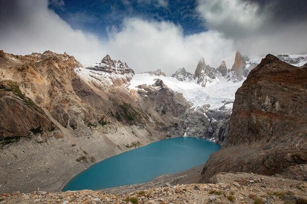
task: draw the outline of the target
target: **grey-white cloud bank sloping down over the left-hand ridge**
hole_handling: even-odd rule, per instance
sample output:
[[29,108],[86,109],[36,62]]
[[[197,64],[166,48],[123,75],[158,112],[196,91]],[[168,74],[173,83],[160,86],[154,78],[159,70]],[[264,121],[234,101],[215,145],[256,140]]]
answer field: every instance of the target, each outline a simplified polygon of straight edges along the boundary
[[0,0],[0,49],[23,55],[66,51],[82,64],[100,61],[106,45],[95,35],[72,29],[48,4],[48,0]]

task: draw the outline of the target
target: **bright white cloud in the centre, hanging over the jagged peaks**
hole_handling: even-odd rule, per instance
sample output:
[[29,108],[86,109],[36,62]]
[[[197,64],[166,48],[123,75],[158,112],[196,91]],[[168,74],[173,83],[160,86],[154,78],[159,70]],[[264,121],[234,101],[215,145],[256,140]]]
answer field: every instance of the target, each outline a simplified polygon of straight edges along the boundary
[[232,41],[216,31],[184,36],[174,23],[138,18],[126,19],[123,29],[109,33],[109,39],[111,57],[123,59],[136,72],[161,68],[171,75],[182,67],[194,72],[201,57],[210,66],[226,60],[231,67],[235,53]]

